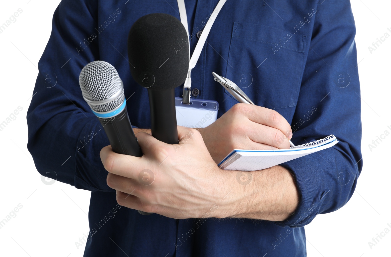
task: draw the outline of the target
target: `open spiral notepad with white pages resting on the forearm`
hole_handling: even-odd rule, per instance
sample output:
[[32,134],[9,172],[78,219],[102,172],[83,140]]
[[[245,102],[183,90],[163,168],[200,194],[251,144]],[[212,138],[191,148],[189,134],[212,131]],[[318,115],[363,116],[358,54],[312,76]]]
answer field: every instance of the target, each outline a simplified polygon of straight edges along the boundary
[[278,150],[239,150],[234,149],[220,163],[223,170],[253,171],[263,170],[275,165],[303,157],[310,153],[329,148],[338,143],[334,135],[323,139],[297,145],[295,148]]

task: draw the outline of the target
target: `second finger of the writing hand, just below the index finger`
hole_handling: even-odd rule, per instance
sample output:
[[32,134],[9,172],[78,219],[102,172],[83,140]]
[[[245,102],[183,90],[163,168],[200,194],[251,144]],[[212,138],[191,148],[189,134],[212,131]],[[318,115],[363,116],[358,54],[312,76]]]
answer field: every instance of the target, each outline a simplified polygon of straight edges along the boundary
[[249,124],[249,138],[252,141],[273,146],[278,149],[289,149],[289,139],[279,129],[252,122]]

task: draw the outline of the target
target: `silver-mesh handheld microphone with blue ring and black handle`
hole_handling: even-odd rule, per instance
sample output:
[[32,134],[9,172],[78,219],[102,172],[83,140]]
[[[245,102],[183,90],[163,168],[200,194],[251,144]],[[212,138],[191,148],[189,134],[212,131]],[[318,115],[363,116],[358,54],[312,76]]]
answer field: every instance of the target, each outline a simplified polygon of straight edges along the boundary
[[79,84],[84,100],[98,117],[113,151],[142,156],[127,114],[124,84],[114,66],[104,61],[90,62],[81,70]]

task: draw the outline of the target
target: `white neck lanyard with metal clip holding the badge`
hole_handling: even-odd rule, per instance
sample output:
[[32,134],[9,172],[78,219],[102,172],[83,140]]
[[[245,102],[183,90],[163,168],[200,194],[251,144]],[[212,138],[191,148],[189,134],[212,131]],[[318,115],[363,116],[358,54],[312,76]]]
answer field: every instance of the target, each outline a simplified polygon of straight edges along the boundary
[[215,9],[213,10],[212,14],[209,17],[209,20],[206,22],[206,25],[204,29],[202,30],[201,36],[198,39],[198,43],[195,46],[193,55],[190,57],[190,35],[188,30],[188,23],[187,23],[187,14],[186,14],[186,8],[185,8],[185,0],[178,0],[178,7],[179,7],[179,16],[181,17],[181,23],[186,29],[186,33],[188,36],[188,46],[189,46],[189,57],[190,57],[190,63],[189,63],[189,70],[187,72],[187,78],[185,80],[185,85],[183,86],[183,95],[185,96],[185,89],[188,89],[188,99],[183,98],[183,103],[188,104],[190,101],[190,87],[192,86],[192,79],[190,77],[190,73],[192,69],[195,67],[195,64],[197,64],[197,61],[199,59],[199,55],[201,54],[202,48],[205,45],[206,37],[208,37],[208,34],[210,32],[210,29],[212,28],[213,22],[215,22],[217,14],[219,14],[221,7],[225,4],[226,0],[220,0],[219,3],[216,5]]

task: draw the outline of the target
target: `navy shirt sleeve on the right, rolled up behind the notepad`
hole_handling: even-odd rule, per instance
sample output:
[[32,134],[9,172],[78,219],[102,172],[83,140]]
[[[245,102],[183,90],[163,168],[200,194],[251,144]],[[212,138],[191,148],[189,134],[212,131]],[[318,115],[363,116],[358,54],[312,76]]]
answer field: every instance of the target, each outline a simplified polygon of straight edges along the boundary
[[299,205],[281,226],[303,227],[353,194],[362,169],[361,98],[355,23],[349,1],[318,4],[300,96],[292,119],[298,145],[334,134],[339,143],[281,164],[291,171]]

